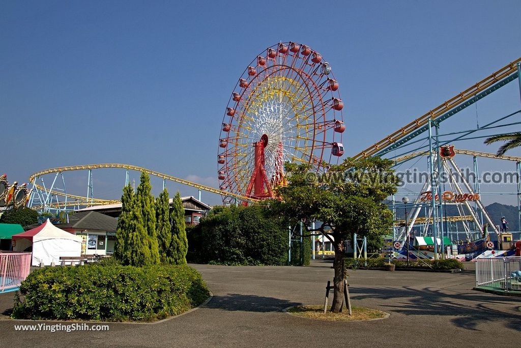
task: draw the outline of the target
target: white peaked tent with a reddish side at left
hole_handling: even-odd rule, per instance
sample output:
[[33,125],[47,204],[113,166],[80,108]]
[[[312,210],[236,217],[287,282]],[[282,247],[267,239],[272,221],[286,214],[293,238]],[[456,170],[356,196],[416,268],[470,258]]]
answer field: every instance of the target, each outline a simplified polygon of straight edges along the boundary
[[60,256],[81,256],[79,235],[74,235],[54,226],[49,219],[41,226],[13,235],[14,251],[23,251],[32,242],[32,265],[48,266],[59,264]]

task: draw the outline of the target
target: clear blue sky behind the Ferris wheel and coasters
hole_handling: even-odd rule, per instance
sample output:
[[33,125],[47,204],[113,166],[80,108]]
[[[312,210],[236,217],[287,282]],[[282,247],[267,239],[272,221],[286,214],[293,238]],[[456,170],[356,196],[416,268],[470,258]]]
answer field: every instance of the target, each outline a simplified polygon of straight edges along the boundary
[[[129,163],[217,186],[229,96],[279,41],[331,64],[353,155],[521,56],[520,11],[518,0],[3,1],[0,171],[23,182],[45,168]],[[478,103],[481,124],[521,108],[516,82],[494,94]],[[476,109],[457,118],[454,128],[475,127]],[[480,143],[461,147],[495,151]],[[120,196],[122,171],[94,176],[96,196]],[[85,194],[85,173],[66,184]]]

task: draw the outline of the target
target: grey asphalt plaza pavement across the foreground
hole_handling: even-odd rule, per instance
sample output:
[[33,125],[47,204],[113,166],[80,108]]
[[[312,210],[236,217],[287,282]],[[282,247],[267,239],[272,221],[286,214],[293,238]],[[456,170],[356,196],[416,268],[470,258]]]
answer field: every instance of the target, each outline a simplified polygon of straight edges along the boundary
[[[3,347],[519,346],[521,299],[472,290],[474,271],[350,272],[352,302],[388,312],[388,319],[326,322],[293,317],[283,308],[324,302],[333,270],[309,267],[193,265],[213,299],[191,313],[153,325],[109,324],[108,332],[15,331],[30,321],[0,320]],[[13,294],[0,295],[0,313]],[[6,318],[4,316],[4,318]],[[54,323],[51,323],[54,324]]]

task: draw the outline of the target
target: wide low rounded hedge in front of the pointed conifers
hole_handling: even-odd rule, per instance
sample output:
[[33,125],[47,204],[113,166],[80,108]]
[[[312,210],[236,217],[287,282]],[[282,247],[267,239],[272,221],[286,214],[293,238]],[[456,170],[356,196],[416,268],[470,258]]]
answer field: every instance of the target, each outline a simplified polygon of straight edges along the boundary
[[37,269],[20,294],[16,319],[151,321],[195,307],[209,292],[188,266],[85,265]]

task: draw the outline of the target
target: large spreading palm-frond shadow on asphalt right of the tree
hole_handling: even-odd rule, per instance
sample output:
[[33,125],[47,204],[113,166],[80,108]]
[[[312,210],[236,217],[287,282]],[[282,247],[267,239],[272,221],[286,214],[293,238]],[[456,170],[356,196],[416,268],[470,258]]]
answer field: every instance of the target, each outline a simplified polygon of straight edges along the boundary
[[[392,304],[383,305],[389,311],[405,315],[456,316],[452,323],[468,330],[478,330],[478,324],[502,321],[506,327],[521,331],[521,306],[518,297],[481,295],[472,293],[448,294],[439,289],[358,288],[351,289],[353,300],[383,299]],[[506,305],[513,312],[498,308]],[[479,330],[478,330],[479,331]]]

